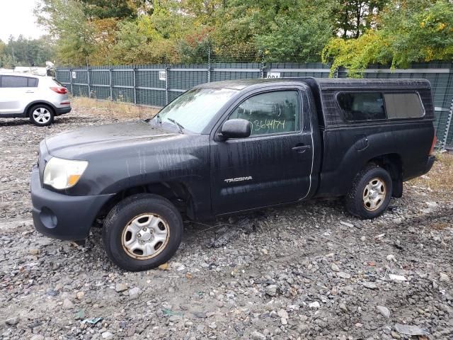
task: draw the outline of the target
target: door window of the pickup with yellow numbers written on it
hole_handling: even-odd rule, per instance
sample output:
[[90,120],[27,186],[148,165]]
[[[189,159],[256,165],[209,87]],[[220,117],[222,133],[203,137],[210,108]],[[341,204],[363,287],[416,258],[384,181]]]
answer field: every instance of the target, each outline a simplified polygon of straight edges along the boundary
[[252,135],[295,132],[300,129],[299,94],[295,90],[257,94],[243,101],[228,119],[252,124]]

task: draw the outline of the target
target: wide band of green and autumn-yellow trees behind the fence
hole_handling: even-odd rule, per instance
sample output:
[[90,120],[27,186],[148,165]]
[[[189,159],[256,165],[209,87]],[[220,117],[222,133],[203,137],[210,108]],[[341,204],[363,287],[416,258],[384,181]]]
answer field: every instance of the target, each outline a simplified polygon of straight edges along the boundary
[[[71,64],[331,62],[360,76],[453,57],[449,0],[42,0],[38,22]],[[0,45],[0,50],[1,50]],[[26,58],[25,58],[26,59]]]

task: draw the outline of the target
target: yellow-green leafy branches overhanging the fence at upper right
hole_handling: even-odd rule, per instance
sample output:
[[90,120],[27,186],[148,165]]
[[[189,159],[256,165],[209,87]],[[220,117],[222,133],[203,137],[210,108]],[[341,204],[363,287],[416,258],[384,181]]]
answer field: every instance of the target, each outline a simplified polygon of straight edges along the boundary
[[453,6],[447,0],[401,1],[388,6],[380,28],[356,40],[332,38],[323,50],[331,72],[345,67],[353,77],[369,64],[408,67],[411,62],[452,60]]

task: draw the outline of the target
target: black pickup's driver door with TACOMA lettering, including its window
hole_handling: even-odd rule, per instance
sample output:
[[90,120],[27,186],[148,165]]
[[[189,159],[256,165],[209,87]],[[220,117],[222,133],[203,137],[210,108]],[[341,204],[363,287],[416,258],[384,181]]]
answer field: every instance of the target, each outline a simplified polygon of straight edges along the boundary
[[293,202],[307,195],[313,145],[310,125],[303,123],[304,96],[302,88],[261,91],[229,111],[226,120],[246,119],[252,132],[250,137],[222,142],[212,138],[214,215]]

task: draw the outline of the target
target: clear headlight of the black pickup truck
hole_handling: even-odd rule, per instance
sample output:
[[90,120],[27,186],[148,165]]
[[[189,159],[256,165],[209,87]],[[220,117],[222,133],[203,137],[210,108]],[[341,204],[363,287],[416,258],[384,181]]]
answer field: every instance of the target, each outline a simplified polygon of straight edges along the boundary
[[86,161],[71,161],[52,157],[44,168],[44,183],[58,190],[71,188],[79,181],[88,166]]

